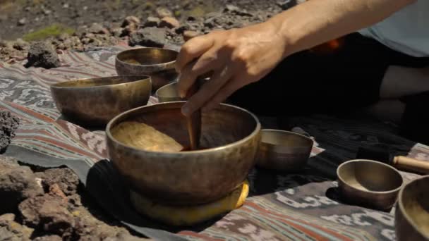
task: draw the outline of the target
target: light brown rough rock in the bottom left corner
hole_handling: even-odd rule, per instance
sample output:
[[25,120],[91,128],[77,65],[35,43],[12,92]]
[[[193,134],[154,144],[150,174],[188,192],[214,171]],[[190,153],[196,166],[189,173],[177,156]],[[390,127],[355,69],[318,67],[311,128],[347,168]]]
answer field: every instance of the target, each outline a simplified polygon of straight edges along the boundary
[[0,240],[30,240],[32,228],[15,221],[15,214],[0,216]]

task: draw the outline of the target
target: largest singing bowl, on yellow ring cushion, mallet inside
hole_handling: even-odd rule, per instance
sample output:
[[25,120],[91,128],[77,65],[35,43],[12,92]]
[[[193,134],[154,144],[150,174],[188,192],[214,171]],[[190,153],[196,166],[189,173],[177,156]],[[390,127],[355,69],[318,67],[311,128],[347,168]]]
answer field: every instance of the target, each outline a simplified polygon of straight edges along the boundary
[[[252,113],[226,104],[210,112],[203,111],[202,149],[181,152],[181,147],[189,147],[186,118],[181,114],[184,103],[143,106],[122,113],[107,125],[112,163],[131,189],[155,202],[169,205],[213,202],[241,185],[255,165],[260,122]],[[131,130],[133,125],[141,123],[155,129],[139,126]],[[161,141],[152,138],[160,133],[177,142],[171,146],[179,145],[179,149],[171,152],[153,149],[162,146]]]

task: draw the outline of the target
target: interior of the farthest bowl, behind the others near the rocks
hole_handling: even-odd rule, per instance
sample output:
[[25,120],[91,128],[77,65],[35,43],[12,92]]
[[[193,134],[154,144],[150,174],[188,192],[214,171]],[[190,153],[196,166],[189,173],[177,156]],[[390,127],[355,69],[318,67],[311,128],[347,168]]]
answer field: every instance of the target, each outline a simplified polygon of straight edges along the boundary
[[140,48],[122,51],[116,58],[131,65],[156,65],[176,61],[178,54],[172,49]]

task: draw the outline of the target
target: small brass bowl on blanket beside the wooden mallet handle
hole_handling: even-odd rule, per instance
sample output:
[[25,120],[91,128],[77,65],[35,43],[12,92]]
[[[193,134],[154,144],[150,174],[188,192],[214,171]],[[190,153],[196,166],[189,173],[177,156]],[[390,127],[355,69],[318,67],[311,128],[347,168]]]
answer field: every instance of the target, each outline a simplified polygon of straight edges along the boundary
[[379,210],[392,208],[404,183],[392,166],[363,159],[339,165],[337,177],[344,201]]

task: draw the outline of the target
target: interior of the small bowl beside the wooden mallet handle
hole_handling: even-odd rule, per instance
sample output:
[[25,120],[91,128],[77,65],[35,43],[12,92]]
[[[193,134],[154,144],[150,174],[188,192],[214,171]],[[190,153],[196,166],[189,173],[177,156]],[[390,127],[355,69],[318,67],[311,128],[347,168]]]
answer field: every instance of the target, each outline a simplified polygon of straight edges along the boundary
[[401,175],[383,163],[377,161],[349,161],[338,170],[339,178],[344,183],[366,192],[389,192],[402,185]]

